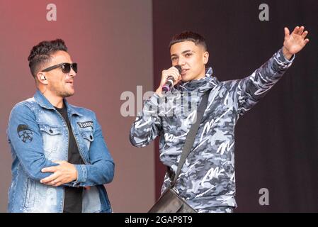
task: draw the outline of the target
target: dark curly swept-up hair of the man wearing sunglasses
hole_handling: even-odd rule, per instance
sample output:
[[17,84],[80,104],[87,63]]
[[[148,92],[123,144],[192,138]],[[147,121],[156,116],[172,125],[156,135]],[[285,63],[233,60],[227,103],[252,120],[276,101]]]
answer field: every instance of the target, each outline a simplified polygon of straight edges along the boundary
[[56,40],[42,41],[32,48],[28,61],[33,77],[36,76],[42,65],[50,62],[51,55],[59,50],[67,52],[67,46],[65,45],[64,40],[60,38]]

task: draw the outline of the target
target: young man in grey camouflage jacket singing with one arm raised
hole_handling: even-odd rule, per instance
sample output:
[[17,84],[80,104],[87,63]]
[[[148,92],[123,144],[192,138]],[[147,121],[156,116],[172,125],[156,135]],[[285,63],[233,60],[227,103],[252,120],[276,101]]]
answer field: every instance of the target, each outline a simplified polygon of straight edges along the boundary
[[[239,116],[251,109],[284,72],[295,54],[309,42],[305,28],[292,33],[285,28],[283,48],[249,77],[219,82],[212,76],[204,38],[193,32],[174,36],[169,45],[172,67],[162,71],[161,83],[130,131],[130,142],[136,147],[148,145],[160,136],[160,159],[176,172],[186,135],[195,121],[201,96],[210,92],[208,106],[174,189],[198,212],[232,212],[237,204],[234,172],[234,126]],[[181,66],[181,73],[176,65]],[[168,77],[174,77],[174,88],[163,93]],[[193,108],[194,107],[194,108]],[[189,111],[187,112],[186,110]],[[171,114],[172,113],[172,114]],[[169,174],[161,192],[169,187]]]

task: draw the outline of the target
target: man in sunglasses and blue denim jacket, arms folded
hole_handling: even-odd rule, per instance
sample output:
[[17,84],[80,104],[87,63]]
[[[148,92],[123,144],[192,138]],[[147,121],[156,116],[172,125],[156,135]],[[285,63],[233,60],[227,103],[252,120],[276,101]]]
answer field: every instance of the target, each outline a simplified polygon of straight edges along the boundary
[[13,107],[8,143],[13,163],[9,212],[111,212],[103,184],[114,162],[96,115],[65,99],[77,64],[63,40],[43,41],[28,57],[37,92]]

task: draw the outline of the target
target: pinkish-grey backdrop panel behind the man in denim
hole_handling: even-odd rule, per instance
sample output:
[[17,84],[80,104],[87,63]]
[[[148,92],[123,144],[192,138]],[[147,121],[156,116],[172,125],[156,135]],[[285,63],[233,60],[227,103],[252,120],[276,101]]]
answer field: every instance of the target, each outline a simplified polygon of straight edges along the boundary
[[[47,21],[47,4],[57,6],[57,21]],[[55,38],[65,40],[79,64],[76,94],[69,101],[96,112],[114,157],[115,179],[106,186],[114,211],[147,211],[154,202],[154,147],[130,145],[134,117],[121,116],[120,94],[136,94],[137,85],[152,90],[152,1],[0,0],[0,28],[0,211],[6,211],[11,182],[8,115],[35,92],[30,49]]]

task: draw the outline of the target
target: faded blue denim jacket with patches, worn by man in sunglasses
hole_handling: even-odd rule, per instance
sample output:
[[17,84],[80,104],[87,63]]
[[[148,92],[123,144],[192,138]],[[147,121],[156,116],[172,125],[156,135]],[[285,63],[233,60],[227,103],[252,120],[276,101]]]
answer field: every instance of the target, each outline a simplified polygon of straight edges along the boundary
[[[69,187],[86,187],[82,212],[112,212],[103,184],[113,180],[114,162],[104,141],[96,115],[64,101],[84,165],[75,165],[76,182]],[[62,212],[64,187],[40,183],[52,172],[42,168],[68,160],[69,129],[64,118],[39,91],[33,98],[13,107],[7,128],[13,163],[8,190],[9,212]]]

